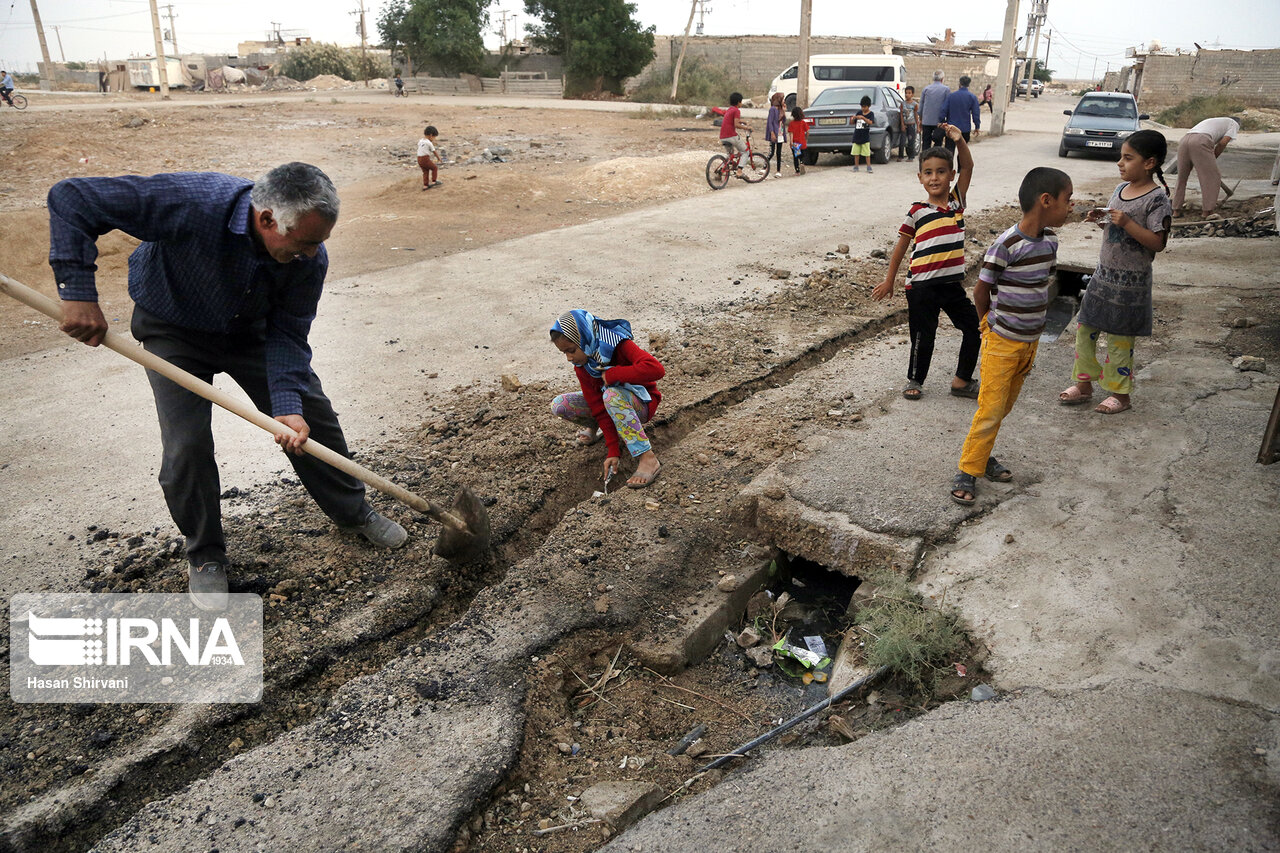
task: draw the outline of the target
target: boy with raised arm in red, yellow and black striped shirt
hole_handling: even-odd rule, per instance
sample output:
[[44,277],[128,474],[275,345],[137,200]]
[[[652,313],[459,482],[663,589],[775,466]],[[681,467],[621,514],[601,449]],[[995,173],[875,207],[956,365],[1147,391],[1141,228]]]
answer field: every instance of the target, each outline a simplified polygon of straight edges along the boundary
[[[933,360],[933,341],[938,334],[938,313],[946,311],[952,325],[964,336],[956,375],[951,379],[951,393],[957,397],[978,396],[978,380],[973,378],[978,366],[982,336],[978,332],[978,313],[964,292],[964,206],[973,177],[973,156],[959,128],[943,126],[946,137],[956,146],[959,173],[951,165],[951,151],[934,146],[920,155],[920,186],[929,193],[928,201],[916,201],[897,229],[897,246],[888,263],[888,274],[872,296],[883,300],[893,295],[897,269],[911,248],[911,263],[906,270],[906,319],[911,330],[911,356],[906,368],[906,387],[902,396],[919,400],[924,378]],[[955,188],[951,182],[955,182]]]

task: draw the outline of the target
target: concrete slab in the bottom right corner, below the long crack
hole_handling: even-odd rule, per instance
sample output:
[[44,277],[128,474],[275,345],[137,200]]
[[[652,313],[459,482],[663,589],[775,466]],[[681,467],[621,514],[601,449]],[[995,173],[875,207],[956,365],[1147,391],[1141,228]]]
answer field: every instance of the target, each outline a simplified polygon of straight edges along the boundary
[[602,853],[742,839],[791,853],[1262,853],[1280,847],[1277,736],[1272,715],[1146,685],[951,703],[845,747],[769,752]]

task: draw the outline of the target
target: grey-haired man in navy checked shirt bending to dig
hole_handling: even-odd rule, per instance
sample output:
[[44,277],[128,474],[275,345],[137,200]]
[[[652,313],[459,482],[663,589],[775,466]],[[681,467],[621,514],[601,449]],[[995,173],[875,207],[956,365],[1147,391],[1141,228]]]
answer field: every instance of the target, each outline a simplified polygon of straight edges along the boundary
[[[337,219],[333,182],[305,163],[276,167],[257,182],[218,173],[61,181],[49,191],[60,328],[88,346],[102,342],[96,241],[115,229],[143,241],[129,257],[133,337],[206,382],[230,375],[255,406],[293,430],[276,443],[320,508],[396,548],[407,534],[374,511],[364,484],[302,451],[310,435],[349,456],[307,343],[329,268],[323,243]],[[221,610],[227,540],[211,403],[152,370],[147,378],[160,419],[160,485],[187,537],[191,598]]]

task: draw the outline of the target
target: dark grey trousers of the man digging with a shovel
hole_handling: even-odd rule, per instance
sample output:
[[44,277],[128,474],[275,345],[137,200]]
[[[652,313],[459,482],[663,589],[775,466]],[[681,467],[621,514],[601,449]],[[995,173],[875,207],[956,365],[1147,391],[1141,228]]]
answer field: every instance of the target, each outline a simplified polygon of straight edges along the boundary
[[[147,352],[154,352],[205,382],[212,382],[214,374],[225,373],[244,389],[255,406],[271,414],[265,341],[261,333],[195,332],[166,323],[140,307],[133,309],[131,330]],[[169,515],[187,537],[187,558],[193,565],[212,560],[225,562],[227,539],[223,535],[219,503],[221,487],[210,424],[212,403],[159,373],[147,370],[147,379],[156,401],[164,448],[160,488],[169,505]],[[343,456],[351,456],[338,416],[314,371],[311,384],[302,394],[302,418],[311,428],[312,439]],[[302,485],[325,515],[343,526],[364,521],[371,507],[365,501],[365,487],[360,480],[314,456],[288,456]]]

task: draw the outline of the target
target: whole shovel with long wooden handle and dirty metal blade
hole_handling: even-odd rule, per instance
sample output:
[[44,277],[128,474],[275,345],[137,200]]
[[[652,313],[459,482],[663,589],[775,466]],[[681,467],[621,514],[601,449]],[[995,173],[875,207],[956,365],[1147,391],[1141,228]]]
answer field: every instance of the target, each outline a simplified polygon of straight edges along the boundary
[[[0,275],[0,292],[12,296],[23,305],[36,309],[54,320],[61,323],[61,306],[42,293],[37,293],[26,284],[17,282],[8,275]],[[259,411],[252,405],[242,402],[230,394],[219,391],[207,382],[198,379],[182,368],[177,368],[157,355],[147,352],[132,338],[125,338],[115,332],[108,332],[102,345],[115,350],[125,359],[141,364],[148,370],[155,370],[160,375],[172,379],[187,391],[200,394],[205,400],[216,403],[227,411],[239,415],[251,424],[261,426],[276,435],[293,435],[293,430]],[[389,494],[404,506],[417,510],[435,521],[444,525],[440,538],[435,543],[435,553],[451,562],[470,562],[484,556],[489,551],[489,514],[485,511],[480,498],[467,487],[458,491],[453,506],[444,508],[434,501],[421,498],[408,489],[404,489],[384,476],[374,474],[362,465],[342,456],[337,451],[329,450],[324,444],[308,439],[302,446],[303,452],[315,456],[323,462],[351,474],[361,483],[374,487],[384,494]]]

